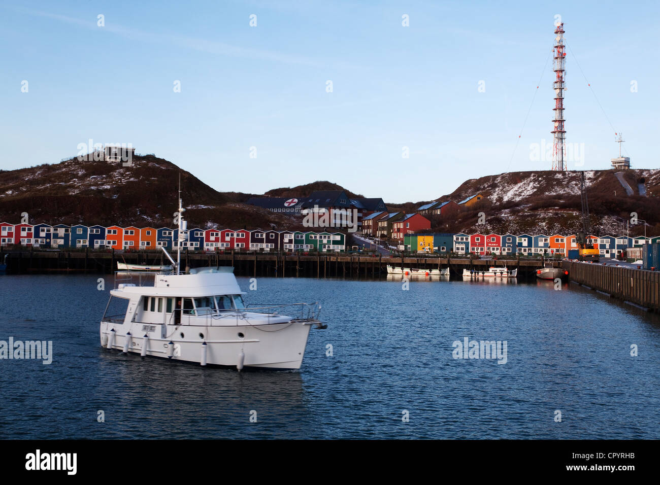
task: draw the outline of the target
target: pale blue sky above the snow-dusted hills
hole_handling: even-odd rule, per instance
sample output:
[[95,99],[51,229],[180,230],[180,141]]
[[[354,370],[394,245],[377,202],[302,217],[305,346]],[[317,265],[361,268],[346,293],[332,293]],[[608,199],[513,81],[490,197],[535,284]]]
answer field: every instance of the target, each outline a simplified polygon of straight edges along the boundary
[[555,15],[570,48],[569,168],[609,168],[618,130],[634,168],[659,168],[653,1],[2,1],[0,168],[59,162],[92,139],[220,191],[327,179],[389,203],[546,170],[530,145],[552,143],[550,61],[541,73]]

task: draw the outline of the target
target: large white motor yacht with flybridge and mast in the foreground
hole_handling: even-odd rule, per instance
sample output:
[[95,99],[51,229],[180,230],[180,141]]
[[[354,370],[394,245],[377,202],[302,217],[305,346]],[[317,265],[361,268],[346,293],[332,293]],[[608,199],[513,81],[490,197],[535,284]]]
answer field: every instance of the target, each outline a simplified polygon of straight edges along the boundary
[[[181,201],[179,206],[182,241],[187,231]],[[174,271],[117,273],[100,323],[102,346],[202,366],[299,369],[310,328],[327,327],[318,319],[318,304],[247,307],[233,268],[182,274],[180,251],[176,263],[164,252]]]

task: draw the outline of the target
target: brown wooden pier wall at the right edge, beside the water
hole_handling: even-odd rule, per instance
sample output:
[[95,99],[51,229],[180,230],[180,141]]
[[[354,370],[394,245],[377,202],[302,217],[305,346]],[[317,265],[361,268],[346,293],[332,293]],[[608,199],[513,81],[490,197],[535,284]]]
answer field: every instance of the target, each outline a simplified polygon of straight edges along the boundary
[[660,311],[660,272],[564,261],[574,282],[609,294],[612,298]]

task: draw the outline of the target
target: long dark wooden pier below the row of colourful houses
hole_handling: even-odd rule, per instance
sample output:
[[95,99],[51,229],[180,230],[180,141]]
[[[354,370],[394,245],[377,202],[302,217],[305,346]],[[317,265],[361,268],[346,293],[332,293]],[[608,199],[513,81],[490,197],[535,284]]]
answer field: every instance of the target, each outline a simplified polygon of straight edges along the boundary
[[[112,273],[117,261],[137,265],[169,264],[160,251],[94,251],[40,250],[3,251],[9,254],[9,273]],[[176,259],[176,253],[172,254]],[[533,276],[543,267],[544,260],[525,258],[479,259],[456,255],[453,257],[383,257],[382,255],[347,255],[345,253],[282,254],[282,253],[234,253],[232,251],[182,252],[183,267],[233,266],[237,276],[304,276],[327,277],[378,277],[387,273],[387,265],[418,269],[449,268],[450,273],[461,276],[463,269],[488,269],[506,265],[517,269],[522,277]],[[560,261],[554,263],[557,267]]]

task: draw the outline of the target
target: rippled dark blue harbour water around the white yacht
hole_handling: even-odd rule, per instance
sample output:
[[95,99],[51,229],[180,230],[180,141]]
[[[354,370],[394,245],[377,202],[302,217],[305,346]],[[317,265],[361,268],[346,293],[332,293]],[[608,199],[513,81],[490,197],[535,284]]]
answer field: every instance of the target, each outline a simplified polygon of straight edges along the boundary
[[[0,276],[0,340],[53,344],[0,360],[0,438],[660,438],[658,316],[576,285],[238,278],[328,323],[300,371],[238,373],[101,348],[97,279]],[[466,337],[506,364],[454,358]]]

